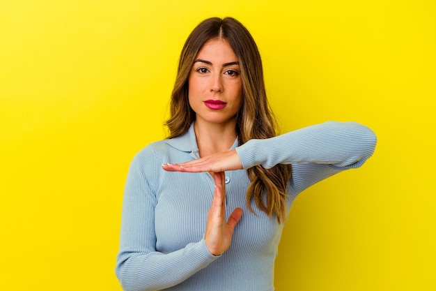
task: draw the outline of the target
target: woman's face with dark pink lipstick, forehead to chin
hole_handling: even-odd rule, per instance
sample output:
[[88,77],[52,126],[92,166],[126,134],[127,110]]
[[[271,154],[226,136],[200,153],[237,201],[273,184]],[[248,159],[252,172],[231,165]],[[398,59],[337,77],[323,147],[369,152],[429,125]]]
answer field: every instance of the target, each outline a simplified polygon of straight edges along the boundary
[[208,40],[201,47],[189,73],[188,96],[198,124],[235,126],[242,80],[238,57],[227,40]]

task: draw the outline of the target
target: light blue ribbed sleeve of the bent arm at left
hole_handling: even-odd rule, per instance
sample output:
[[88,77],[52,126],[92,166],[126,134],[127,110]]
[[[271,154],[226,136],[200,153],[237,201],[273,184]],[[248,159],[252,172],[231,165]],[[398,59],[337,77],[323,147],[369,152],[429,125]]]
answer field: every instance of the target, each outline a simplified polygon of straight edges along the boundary
[[158,165],[153,151],[142,151],[132,161],[127,175],[116,265],[116,275],[124,290],[169,288],[217,258],[209,253],[204,240],[171,253],[156,251]]

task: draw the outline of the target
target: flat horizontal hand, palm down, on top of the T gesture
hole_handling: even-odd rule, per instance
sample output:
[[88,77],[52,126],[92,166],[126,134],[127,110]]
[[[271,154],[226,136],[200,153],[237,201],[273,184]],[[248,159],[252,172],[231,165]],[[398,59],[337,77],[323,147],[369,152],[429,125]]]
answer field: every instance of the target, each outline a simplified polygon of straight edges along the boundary
[[180,164],[163,164],[162,168],[169,172],[224,172],[242,170],[241,160],[235,149],[213,154]]

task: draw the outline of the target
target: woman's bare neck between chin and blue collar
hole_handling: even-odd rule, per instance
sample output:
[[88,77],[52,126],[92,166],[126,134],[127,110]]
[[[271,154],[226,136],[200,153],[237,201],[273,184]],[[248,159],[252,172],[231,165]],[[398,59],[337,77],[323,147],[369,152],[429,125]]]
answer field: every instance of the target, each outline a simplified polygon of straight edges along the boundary
[[201,157],[228,151],[237,137],[236,123],[203,124],[195,121],[194,130]]

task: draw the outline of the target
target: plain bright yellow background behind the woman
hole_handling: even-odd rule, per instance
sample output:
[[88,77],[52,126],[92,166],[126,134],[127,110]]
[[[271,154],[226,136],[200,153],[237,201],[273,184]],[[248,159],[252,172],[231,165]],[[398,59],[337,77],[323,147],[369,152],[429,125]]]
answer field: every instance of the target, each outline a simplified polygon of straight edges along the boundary
[[283,131],[378,136],[297,198],[277,290],[436,290],[433,0],[1,0],[1,290],[120,290],[127,167],[164,137],[185,38],[226,15],[260,47]]

